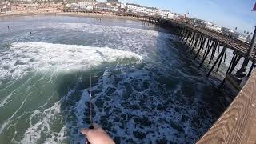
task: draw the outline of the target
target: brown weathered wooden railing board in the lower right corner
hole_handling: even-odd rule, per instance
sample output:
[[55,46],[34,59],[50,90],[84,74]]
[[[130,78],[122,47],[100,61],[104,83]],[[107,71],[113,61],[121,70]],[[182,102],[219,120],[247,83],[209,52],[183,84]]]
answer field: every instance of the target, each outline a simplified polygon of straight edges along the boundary
[[256,70],[221,118],[197,143],[256,143]]

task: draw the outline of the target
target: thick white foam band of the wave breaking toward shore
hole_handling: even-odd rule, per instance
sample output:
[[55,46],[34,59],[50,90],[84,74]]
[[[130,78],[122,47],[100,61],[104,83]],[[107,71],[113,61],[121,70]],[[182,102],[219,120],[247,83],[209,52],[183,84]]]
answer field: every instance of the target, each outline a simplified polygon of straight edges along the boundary
[[142,56],[107,47],[52,44],[43,42],[13,43],[2,54],[0,80],[21,77],[33,70],[88,70],[105,62],[124,58],[140,61]]

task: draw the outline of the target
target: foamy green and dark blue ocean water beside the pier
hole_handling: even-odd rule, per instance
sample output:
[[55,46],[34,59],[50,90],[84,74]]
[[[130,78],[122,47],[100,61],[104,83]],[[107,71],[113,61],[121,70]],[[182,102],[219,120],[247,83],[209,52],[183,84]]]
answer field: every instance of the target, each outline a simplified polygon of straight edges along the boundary
[[115,142],[194,143],[235,93],[189,51],[138,21],[2,18],[0,143],[84,143],[90,75],[94,122]]

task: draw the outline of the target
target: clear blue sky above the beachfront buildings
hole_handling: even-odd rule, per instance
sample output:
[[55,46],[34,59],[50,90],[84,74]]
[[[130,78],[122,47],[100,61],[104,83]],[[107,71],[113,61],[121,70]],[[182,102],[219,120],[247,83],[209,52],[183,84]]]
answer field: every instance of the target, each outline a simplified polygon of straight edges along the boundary
[[220,26],[253,32],[256,11],[250,11],[256,0],[121,0],[141,6],[154,6],[178,14],[190,13],[189,17],[214,22]]

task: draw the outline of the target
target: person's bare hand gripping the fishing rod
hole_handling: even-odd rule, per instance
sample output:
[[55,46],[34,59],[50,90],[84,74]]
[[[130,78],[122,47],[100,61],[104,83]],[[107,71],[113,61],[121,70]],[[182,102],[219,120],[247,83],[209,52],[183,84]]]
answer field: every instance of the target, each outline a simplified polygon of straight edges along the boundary
[[87,137],[91,144],[114,144],[106,131],[96,123],[94,123],[94,129],[82,129],[81,133]]

